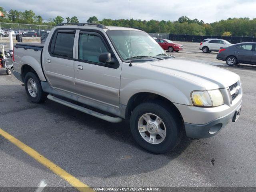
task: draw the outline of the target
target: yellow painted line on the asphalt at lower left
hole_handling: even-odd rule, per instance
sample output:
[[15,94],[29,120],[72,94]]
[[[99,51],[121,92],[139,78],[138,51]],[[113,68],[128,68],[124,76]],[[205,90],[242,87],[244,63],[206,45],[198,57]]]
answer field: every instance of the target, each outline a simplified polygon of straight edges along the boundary
[[88,185],[84,184],[44,156],[42,156],[40,153],[36,152],[34,149],[30,148],[26,144],[22,143],[20,140],[16,139],[14,136],[8,134],[4,130],[0,128],[0,135],[2,135],[4,138],[9,140],[12,144],[16,145],[18,148],[23,150],[26,154],[37,160],[42,165],[46,166],[46,168],[50,169],[52,172],[66,180],[70,185],[77,188],[80,192],[93,192],[92,188],[90,188]]

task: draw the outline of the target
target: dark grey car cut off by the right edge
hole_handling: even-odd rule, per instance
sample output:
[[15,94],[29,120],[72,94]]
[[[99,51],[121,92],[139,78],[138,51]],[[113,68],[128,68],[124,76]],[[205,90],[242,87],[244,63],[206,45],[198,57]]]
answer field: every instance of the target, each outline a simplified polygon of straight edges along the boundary
[[221,48],[217,59],[226,61],[229,66],[238,63],[256,65],[256,43],[238,43]]

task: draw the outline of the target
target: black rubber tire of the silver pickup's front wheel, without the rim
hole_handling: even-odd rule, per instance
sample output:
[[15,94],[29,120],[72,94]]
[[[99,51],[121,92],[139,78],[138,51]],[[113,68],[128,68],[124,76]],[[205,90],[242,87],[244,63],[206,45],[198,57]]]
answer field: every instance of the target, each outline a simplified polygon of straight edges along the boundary
[[[138,105],[131,114],[130,129],[136,142],[144,149],[162,154],[173,150],[182,137],[182,124],[175,110],[169,109],[162,102],[146,102]],[[151,144],[146,141],[139,132],[138,123],[143,114],[152,113],[162,119],[166,127],[166,136],[159,144]],[[146,132],[145,132],[146,133]],[[146,137],[146,136],[145,136]]]

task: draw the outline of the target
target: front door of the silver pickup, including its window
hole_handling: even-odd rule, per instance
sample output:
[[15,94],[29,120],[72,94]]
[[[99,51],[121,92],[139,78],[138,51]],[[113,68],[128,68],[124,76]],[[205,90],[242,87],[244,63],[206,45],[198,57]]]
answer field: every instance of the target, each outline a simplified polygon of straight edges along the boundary
[[121,66],[99,61],[100,54],[111,52],[106,38],[97,32],[80,31],[76,42],[76,92],[85,98],[119,107]]

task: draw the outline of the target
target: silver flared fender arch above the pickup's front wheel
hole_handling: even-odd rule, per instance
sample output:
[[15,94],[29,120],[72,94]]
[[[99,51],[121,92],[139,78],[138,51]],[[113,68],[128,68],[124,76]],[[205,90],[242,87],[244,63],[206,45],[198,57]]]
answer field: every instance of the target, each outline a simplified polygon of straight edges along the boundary
[[120,103],[127,105],[129,99],[136,93],[149,92],[163,96],[173,103],[192,105],[190,97],[182,93],[178,88],[152,79],[134,80],[120,89]]

